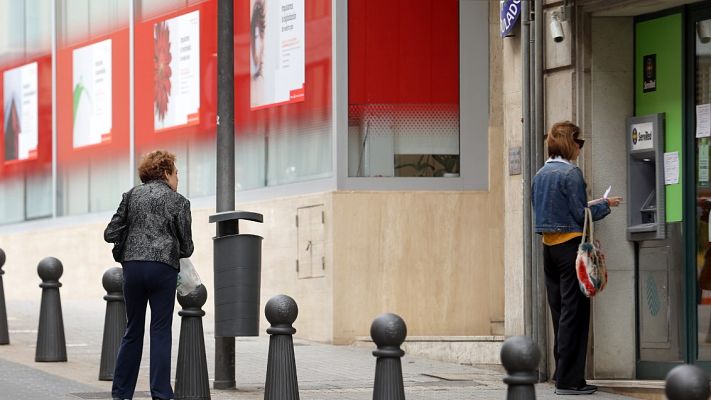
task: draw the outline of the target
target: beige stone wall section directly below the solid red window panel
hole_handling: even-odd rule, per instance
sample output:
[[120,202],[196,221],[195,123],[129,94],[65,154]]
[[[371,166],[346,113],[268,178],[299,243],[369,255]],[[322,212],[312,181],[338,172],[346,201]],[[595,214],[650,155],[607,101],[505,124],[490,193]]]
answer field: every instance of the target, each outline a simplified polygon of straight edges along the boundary
[[495,203],[488,193],[335,193],[334,341],[369,335],[383,312],[409,336],[490,335],[503,305]]

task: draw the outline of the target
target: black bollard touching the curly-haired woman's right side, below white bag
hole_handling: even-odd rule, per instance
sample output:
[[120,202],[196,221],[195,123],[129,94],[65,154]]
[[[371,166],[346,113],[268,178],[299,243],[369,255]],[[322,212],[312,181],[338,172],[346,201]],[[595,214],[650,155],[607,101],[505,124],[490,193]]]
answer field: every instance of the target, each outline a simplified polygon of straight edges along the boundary
[[210,380],[207,376],[205,335],[202,330],[201,309],[207,301],[207,289],[200,285],[185,296],[178,295],[183,309],[178,312],[180,344],[178,366],[175,371],[175,400],[209,400]]

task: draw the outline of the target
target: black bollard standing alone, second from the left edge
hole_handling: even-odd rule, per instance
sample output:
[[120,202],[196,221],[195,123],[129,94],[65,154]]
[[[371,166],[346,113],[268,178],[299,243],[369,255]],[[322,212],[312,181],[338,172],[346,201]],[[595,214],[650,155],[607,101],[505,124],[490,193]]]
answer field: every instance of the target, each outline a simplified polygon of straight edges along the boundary
[[62,272],[62,262],[54,257],[42,259],[37,266],[37,273],[42,279],[42,303],[35,351],[37,362],[67,361],[62,303],[59,298],[59,288],[62,286],[59,277]]

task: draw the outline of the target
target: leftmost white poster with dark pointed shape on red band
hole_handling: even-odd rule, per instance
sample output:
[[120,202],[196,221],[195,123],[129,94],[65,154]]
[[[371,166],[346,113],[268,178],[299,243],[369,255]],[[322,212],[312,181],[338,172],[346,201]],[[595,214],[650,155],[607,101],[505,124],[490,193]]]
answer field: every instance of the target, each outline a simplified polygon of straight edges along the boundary
[[37,63],[3,74],[5,161],[37,158]]

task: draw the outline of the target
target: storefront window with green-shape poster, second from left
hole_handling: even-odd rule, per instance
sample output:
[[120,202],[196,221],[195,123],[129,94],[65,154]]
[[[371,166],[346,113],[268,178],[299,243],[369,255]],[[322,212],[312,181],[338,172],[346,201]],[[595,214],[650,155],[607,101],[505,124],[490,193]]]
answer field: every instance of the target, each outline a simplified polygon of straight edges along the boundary
[[130,186],[129,3],[57,3],[57,215],[111,210]]

